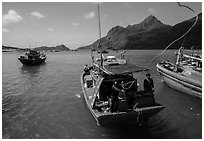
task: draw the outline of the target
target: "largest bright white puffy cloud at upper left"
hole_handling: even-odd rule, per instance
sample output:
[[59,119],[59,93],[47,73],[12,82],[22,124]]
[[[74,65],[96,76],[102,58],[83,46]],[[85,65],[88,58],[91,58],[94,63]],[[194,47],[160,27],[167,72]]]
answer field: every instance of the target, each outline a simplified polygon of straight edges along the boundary
[[9,10],[7,14],[2,17],[3,26],[9,23],[20,22],[23,18],[14,10]]

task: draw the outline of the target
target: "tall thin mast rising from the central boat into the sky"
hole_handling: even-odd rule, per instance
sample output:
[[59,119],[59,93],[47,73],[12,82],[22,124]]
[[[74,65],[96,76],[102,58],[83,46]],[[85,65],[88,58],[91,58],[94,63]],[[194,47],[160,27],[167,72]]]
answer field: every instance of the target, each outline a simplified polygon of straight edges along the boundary
[[103,67],[103,57],[102,57],[102,47],[101,47],[101,19],[100,19],[100,7],[98,2],[98,27],[99,27],[99,44],[98,48],[100,48],[100,67]]

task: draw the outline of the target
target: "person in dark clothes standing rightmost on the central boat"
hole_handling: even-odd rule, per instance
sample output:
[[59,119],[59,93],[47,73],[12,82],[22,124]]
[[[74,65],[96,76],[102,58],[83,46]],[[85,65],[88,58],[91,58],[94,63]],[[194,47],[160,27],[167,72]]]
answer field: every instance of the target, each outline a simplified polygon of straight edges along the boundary
[[144,91],[153,94],[154,82],[150,76],[151,75],[149,73],[146,74],[147,78],[144,79]]

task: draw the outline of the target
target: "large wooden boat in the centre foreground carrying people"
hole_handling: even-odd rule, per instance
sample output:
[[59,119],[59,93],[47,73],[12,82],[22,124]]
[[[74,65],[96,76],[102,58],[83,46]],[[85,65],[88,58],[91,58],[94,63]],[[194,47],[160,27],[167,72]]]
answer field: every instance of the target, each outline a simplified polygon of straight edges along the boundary
[[[155,102],[154,94],[137,91],[137,80],[132,73],[143,70],[144,68],[129,64],[104,65],[99,68],[95,63],[91,67],[90,73],[82,73],[83,95],[88,109],[98,125],[142,123],[164,109],[164,106]],[[113,106],[111,94],[114,81],[124,82],[125,93],[120,93],[118,108],[113,112],[111,111],[111,106]]]

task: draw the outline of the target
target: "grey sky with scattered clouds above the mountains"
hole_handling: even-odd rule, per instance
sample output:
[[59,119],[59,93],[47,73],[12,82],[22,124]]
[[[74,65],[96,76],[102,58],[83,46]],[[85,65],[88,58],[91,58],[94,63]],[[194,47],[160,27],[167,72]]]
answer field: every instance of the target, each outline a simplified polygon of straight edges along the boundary
[[[181,2],[196,14],[202,2]],[[149,15],[175,25],[194,17],[176,2],[102,2],[102,37],[114,26],[138,24]],[[2,44],[20,48],[57,46],[70,49],[92,44],[99,38],[96,2],[2,2]]]

